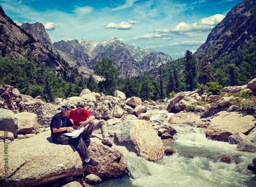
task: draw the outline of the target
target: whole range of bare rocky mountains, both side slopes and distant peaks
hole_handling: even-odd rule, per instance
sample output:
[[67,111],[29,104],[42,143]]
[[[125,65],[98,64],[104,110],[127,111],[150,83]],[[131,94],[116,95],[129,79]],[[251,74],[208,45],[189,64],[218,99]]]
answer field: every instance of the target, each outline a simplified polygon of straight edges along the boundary
[[[197,60],[206,57],[207,61],[212,63],[251,41],[256,36],[255,4],[255,0],[244,0],[233,7],[195,52]],[[174,61],[163,52],[124,44],[115,37],[102,42],[81,39],[52,43],[43,24],[23,23],[18,26],[5,14],[2,7],[0,34],[2,56],[23,58],[24,55],[30,54],[41,64],[50,59],[57,71],[63,70],[65,66],[60,61],[62,58],[86,76],[93,74],[95,65],[103,57],[112,59],[114,65],[120,67],[121,78],[141,76],[158,67],[180,61]]]

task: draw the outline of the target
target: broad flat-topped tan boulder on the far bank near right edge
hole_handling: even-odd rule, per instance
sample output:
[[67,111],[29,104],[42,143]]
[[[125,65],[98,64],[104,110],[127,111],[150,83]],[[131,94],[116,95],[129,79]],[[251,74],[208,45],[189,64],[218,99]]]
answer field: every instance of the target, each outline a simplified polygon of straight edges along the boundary
[[252,116],[222,111],[211,119],[209,126],[205,129],[205,134],[212,140],[228,142],[228,137],[233,133],[242,132],[248,135],[254,127],[255,121]]

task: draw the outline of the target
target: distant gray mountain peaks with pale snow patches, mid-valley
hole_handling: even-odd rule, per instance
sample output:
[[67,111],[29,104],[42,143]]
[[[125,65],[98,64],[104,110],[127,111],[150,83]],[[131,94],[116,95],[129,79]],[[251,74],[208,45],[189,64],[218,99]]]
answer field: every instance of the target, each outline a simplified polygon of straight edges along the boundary
[[[163,64],[173,61],[172,57],[154,50],[135,48],[120,42],[117,38],[111,38],[102,42],[85,39],[59,41],[53,43],[60,55],[69,62],[73,58],[79,70],[87,67],[93,70],[98,61],[103,57],[110,58],[116,67],[121,69],[121,77],[140,76]],[[65,54],[63,54],[63,52]],[[84,72],[86,74],[86,72]]]

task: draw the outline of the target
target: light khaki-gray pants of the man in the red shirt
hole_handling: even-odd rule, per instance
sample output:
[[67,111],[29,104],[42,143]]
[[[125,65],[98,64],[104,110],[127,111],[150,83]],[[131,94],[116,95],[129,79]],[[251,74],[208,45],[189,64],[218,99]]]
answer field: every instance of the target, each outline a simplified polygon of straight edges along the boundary
[[91,138],[93,131],[98,130],[100,128],[101,130],[101,135],[102,138],[108,138],[109,137],[109,132],[108,132],[108,128],[106,127],[106,122],[105,120],[93,120],[91,122],[91,124],[88,126],[88,128],[86,130],[83,131],[82,133],[82,138],[87,139],[87,138]]

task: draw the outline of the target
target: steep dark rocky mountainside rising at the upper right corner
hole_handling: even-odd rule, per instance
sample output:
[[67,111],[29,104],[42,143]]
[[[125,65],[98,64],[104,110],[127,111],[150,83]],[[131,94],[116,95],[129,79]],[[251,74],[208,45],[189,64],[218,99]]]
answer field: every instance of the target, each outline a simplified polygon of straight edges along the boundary
[[200,60],[209,62],[229,53],[256,36],[256,1],[244,0],[233,7],[226,17],[212,29],[206,42],[195,52]]

